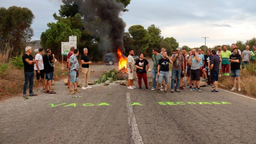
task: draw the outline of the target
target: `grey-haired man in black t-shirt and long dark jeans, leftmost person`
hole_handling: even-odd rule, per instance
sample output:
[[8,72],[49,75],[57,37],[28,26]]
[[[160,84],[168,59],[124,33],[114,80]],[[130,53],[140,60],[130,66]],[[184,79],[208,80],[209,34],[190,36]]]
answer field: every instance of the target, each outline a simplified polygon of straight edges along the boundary
[[29,96],[37,96],[37,94],[33,93],[33,83],[34,83],[34,64],[36,61],[31,56],[32,47],[27,46],[25,48],[26,53],[22,56],[22,61],[24,65],[24,75],[25,81],[23,85],[23,97],[26,97],[27,93],[27,85],[29,82]]

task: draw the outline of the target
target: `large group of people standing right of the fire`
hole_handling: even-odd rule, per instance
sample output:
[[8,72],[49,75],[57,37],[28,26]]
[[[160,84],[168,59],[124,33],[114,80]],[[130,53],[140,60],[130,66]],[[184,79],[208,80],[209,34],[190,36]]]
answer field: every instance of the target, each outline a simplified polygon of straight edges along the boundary
[[[233,78],[233,88],[231,91],[241,91],[240,80],[240,65],[242,69],[245,65],[250,63],[256,63],[256,46],[254,45],[250,51],[250,47],[247,45],[246,50],[241,52],[235,44],[231,45],[232,52],[227,50],[227,46],[218,46],[218,50],[207,49],[206,54],[199,48],[189,50],[177,48],[172,51],[172,56],[169,57],[165,48],[161,48],[161,52],[158,52],[157,48],[152,50],[152,89],[156,90],[156,93],[163,91],[167,94],[168,78],[171,71],[171,92],[180,92],[185,90],[182,86],[183,78],[187,77],[187,86],[190,91],[201,92],[200,80],[205,81],[208,85],[211,85],[214,89],[213,93],[218,93],[218,78],[221,76]],[[128,70],[128,89],[136,88],[133,85],[133,79],[135,71],[138,76],[139,90],[142,89],[142,79],[145,84],[145,89],[148,90],[147,72],[149,69],[149,63],[144,59],[144,54],[139,54],[139,60],[136,62],[132,58],[134,54],[133,50],[129,51],[127,60]],[[172,65],[172,66],[171,66]],[[136,68],[136,69],[135,69]],[[156,77],[157,80],[156,81]],[[201,79],[201,77],[204,77]],[[158,84],[157,84],[158,83]],[[193,84],[193,87],[192,87]],[[237,85],[238,84],[238,85]],[[238,88],[237,88],[238,86]]]

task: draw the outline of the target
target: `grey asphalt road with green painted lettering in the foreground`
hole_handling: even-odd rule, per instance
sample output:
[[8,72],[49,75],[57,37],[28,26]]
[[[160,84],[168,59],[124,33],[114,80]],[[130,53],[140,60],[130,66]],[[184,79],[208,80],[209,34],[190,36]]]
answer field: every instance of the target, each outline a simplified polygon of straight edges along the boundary
[[57,94],[0,102],[0,144],[256,143],[256,100],[221,89],[156,94],[111,83],[70,95],[62,81],[53,88]]

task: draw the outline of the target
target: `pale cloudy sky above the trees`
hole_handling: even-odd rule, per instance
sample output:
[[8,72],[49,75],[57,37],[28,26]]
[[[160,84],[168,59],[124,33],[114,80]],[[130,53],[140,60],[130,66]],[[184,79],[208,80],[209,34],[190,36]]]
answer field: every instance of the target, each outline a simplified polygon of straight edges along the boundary
[[[32,40],[39,40],[48,22],[55,22],[52,14],[58,10],[61,0],[0,0],[1,7],[29,8],[35,15]],[[128,12],[120,14],[126,22],[126,30],[132,25],[151,24],[161,29],[161,35],[174,37],[179,47],[208,47],[245,42],[255,36],[255,0],[131,0]]]

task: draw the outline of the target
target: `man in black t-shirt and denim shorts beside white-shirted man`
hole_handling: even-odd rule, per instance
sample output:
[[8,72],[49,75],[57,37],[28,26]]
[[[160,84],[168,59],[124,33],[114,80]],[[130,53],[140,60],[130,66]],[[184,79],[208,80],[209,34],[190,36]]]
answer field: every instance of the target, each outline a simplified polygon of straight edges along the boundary
[[[44,63],[44,72],[45,72],[45,92],[49,94],[55,94],[56,92],[52,91],[52,80],[53,80],[53,63],[55,62],[54,54],[51,55],[51,50],[46,50],[46,55],[43,57]],[[49,90],[48,90],[48,86]]]

